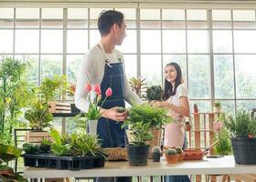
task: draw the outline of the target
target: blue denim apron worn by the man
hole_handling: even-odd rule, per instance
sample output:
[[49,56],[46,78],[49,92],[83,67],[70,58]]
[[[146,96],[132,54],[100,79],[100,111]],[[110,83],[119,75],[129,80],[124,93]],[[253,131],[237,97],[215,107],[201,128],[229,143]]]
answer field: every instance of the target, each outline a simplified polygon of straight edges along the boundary
[[[99,45],[101,50],[104,49]],[[124,76],[123,63],[118,58],[118,63],[110,64],[105,57],[104,76],[101,81],[101,100],[105,98],[105,91],[111,87],[112,96],[109,96],[103,103],[102,108],[110,109],[114,106],[123,106],[124,103]],[[98,106],[101,106],[101,102]],[[122,128],[123,122],[116,122],[112,119],[102,117],[98,120],[97,134],[101,139],[101,147],[125,147],[127,143],[126,128]],[[132,177],[98,177],[97,182],[132,182]]]

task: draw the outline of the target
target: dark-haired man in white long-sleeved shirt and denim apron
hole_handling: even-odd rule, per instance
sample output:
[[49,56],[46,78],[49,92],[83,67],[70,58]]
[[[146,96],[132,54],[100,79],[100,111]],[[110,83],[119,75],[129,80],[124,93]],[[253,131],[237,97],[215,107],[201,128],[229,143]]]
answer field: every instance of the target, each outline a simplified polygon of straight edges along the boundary
[[[129,103],[143,103],[128,84],[123,55],[114,49],[115,45],[122,45],[126,36],[123,18],[123,14],[118,11],[101,12],[98,19],[101,41],[91,48],[82,62],[75,93],[76,106],[86,112],[89,106],[86,99],[88,92],[84,89],[86,84],[101,84],[101,100],[105,97],[106,89],[112,88],[112,96],[103,104],[97,126],[101,147],[125,147],[127,140],[122,124],[127,112],[119,113],[118,108],[125,107],[124,100]],[[101,177],[97,181],[131,182],[132,177]]]

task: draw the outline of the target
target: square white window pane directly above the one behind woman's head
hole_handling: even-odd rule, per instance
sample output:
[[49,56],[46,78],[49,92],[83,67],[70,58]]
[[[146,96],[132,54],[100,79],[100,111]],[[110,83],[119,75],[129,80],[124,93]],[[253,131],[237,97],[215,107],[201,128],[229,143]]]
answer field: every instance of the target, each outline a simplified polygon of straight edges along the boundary
[[163,52],[164,53],[185,53],[186,52],[185,30],[164,30],[163,31]]

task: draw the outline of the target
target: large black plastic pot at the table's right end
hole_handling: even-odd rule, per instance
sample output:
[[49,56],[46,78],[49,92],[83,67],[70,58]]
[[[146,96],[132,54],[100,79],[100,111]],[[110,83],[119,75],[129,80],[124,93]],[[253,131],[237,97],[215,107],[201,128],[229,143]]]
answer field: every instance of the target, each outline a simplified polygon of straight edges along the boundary
[[256,138],[231,138],[236,164],[256,165]]

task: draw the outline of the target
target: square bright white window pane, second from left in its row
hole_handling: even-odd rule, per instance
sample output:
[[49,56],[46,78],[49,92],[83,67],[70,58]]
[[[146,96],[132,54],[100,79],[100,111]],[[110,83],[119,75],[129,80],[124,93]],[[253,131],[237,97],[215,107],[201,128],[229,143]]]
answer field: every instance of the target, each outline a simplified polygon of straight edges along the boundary
[[38,53],[39,31],[16,30],[16,53]]

